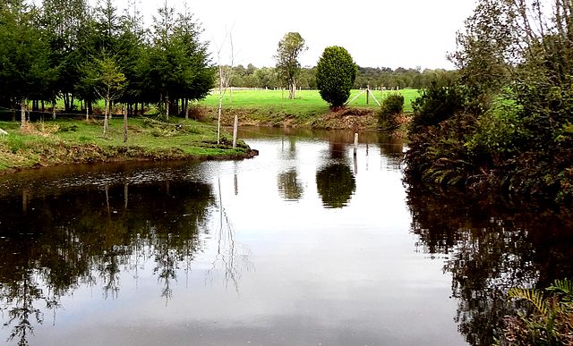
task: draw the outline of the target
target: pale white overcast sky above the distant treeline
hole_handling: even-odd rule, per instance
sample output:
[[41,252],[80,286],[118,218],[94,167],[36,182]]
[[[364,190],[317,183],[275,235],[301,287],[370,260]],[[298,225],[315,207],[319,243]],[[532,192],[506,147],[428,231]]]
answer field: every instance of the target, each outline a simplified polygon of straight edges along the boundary
[[[164,0],[141,0],[146,21]],[[117,2],[124,4],[124,0]],[[183,8],[184,1],[167,0]],[[289,31],[306,40],[303,65],[315,66],[327,46],[344,46],[360,66],[451,69],[446,54],[475,0],[188,0],[213,52],[228,48],[232,32],[235,65],[274,66],[278,41]],[[229,52],[222,53],[228,63]],[[213,55],[214,60],[217,59]]]

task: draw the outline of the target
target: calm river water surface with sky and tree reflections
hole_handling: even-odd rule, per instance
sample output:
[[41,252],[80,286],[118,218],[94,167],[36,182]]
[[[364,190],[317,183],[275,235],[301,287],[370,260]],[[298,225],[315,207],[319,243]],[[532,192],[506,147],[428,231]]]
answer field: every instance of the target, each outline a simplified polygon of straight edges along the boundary
[[571,274],[568,213],[408,190],[398,139],[242,138],[261,155],[0,177],[0,340],[490,344],[503,291]]

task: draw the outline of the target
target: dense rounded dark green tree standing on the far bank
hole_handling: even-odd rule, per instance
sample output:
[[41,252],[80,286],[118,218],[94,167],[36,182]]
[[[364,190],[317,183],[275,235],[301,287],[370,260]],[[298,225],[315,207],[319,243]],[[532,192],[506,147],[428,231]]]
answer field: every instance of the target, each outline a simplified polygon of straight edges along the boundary
[[357,67],[352,56],[341,46],[324,49],[316,66],[316,85],[330,107],[344,105],[355,83]]

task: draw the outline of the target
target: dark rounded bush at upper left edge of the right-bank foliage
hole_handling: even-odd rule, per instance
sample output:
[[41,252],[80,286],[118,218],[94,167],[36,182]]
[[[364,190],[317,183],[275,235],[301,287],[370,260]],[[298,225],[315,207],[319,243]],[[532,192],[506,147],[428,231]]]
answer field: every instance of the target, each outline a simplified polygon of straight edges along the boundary
[[433,82],[422,91],[422,96],[412,102],[414,116],[411,131],[420,131],[424,126],[435,126],[463,111],[466,97],[461,87],[439,87]]

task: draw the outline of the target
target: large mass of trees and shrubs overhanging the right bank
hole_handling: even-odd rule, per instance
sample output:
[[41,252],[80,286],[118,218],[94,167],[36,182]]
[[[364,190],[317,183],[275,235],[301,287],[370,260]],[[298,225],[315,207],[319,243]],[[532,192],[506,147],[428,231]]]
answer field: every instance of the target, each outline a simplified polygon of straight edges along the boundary
[[[460,80],[432,86],[413,105],[407,171],[428,179],[435,162],[462,161],[468,163],[465,186],[478,193],[497,189],[572,202],[573,27],[563,14],[572,11],[573,3],[562,1],[551,8],[537,1],[478,1],[450,56]],[[467,126],[447,121],[454,118]],[[437,125],[440,130],[429,129]],[[463,148],[445,145],[450,141]]]

